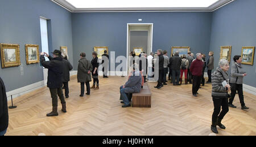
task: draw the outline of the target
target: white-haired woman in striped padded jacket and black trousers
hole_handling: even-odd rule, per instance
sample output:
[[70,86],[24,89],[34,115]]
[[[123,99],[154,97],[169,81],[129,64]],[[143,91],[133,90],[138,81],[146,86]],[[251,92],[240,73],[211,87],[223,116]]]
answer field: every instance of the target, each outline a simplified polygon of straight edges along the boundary
[[217,67],[216,71],[212,74],[212,98],[214,112],[212,114],[211,130],[214,133],[218,133],[216,126],[219,126],[222,129],[226,128],[221,124],[221,120],[229,111],[228,92],[230,91],[230,85],[227,72],[229,70],[229,62],[226,59],[221,59],[218,65],[219,67]]

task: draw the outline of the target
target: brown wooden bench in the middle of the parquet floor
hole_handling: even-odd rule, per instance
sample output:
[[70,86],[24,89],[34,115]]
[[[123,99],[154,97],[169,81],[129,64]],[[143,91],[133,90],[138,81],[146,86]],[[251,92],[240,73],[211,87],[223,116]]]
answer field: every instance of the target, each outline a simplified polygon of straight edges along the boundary
[[131,105],[133,107],[151,107],[151,91],[147,83],[144,83],[140,93],[133,93]]

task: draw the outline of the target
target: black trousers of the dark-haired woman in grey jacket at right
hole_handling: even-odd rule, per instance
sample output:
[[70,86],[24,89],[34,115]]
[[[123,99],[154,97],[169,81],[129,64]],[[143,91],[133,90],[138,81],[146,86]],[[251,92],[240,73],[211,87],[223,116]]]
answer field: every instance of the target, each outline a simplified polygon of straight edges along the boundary
[[242,84],[231,84],[231,98],[229,99],[229,103],[232,104],[234,101],[234,97],[236,96],[236,92],[238,92],[239,100],[241,106],[245,106],[245,101],[243,100],[243,85]]

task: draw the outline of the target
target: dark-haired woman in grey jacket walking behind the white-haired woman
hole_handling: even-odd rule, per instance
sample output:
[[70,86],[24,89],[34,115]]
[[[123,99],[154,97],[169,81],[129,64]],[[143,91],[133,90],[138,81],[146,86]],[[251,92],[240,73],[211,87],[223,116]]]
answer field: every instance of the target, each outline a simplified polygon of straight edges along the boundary
[[229,100],[229,106],[236,108],[236,106],[233,105],[233,101],[234,97],[236,96],[236,92],[238,92],[239,100],[241,103],[241,109],[246,110],[249,109],[249,107],[246,107],[245,102],[243,101],[243,77],[245,77],[247,74],[243,70],[241,64],[241,55],[235,55],[233,60],[234,63],[232,64],[230,73],[231,98]]

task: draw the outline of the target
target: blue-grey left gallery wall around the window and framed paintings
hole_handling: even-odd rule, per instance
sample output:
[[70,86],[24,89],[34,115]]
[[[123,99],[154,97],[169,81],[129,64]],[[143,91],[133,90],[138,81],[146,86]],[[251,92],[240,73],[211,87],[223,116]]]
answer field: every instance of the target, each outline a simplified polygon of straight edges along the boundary
[[36,44],[41,48],[39,17],[51,19],[52,48],[68,47],[73,63],[71,12],[49,0],[1,0],[0,1],[0,43],[19,44],[20,67],[0,68],[0,76],[5,81],[7,91],[43,80],[40,64],[26,64],[25,44]]

